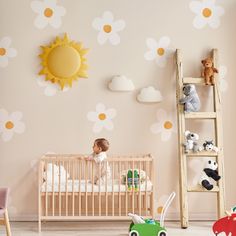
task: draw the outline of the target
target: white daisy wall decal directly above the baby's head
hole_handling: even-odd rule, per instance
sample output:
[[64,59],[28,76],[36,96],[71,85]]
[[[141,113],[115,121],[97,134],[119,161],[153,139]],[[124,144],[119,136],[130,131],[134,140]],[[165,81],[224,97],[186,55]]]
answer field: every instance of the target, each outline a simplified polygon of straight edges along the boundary
[[116,116],[116,110],[114,108],[106,109],[105,105],[98,103],[96,105],[96,111],[90,111],[87,114],[89,121],[94,122],[93,132],[99,133],[103,128],[107,130],[113,130],[114,124],[112,119]]

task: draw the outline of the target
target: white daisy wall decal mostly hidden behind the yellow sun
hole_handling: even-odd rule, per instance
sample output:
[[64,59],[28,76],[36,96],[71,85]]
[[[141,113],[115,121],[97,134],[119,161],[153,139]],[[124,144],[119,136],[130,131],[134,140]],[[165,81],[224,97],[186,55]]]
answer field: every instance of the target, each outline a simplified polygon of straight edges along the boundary
[[43,76],[37,77],[36,81],[40,87],[44,88],[44,94],[49,97],[55,96],[57,92],[67,92],[69,90],[68,86],[65,86],[63,90],[61,90],[61,87],[57,83],[46,81]]

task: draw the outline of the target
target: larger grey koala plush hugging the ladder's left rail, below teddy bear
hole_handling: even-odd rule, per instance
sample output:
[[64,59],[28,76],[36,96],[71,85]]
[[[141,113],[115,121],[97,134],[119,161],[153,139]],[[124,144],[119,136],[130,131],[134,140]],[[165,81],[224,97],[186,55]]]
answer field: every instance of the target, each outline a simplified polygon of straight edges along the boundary
[[185,97],[181,98],[179,102],[184,104],[184,111],[192,112],[199,111],[201,107],[201,102],[198,97],[195,85],[187,84],[183,87],[183,93]]

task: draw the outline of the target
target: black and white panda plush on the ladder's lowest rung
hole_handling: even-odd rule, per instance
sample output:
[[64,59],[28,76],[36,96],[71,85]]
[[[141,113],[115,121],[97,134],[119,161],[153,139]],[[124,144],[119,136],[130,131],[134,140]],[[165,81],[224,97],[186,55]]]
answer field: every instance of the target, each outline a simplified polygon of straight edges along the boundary
[[213,189],[212,179],[215,181],[220,180],[220,176],[218,175],[218,164],[213,160],[208,160],[205,168],[203,169],[201,178],[199,180],[199,184],[202,185],[207,190]]

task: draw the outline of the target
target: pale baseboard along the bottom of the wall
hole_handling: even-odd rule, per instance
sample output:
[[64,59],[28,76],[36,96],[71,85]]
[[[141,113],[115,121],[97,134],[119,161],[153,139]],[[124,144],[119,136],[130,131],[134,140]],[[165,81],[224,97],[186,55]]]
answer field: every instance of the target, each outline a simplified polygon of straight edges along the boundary
[[[216,213],[189,213],[190,221],[215,221],[217,219]],[[10,215],[11,221],[38,221],[37,215]],[[180,221],[179,213],[168,213],[166,221]]]

